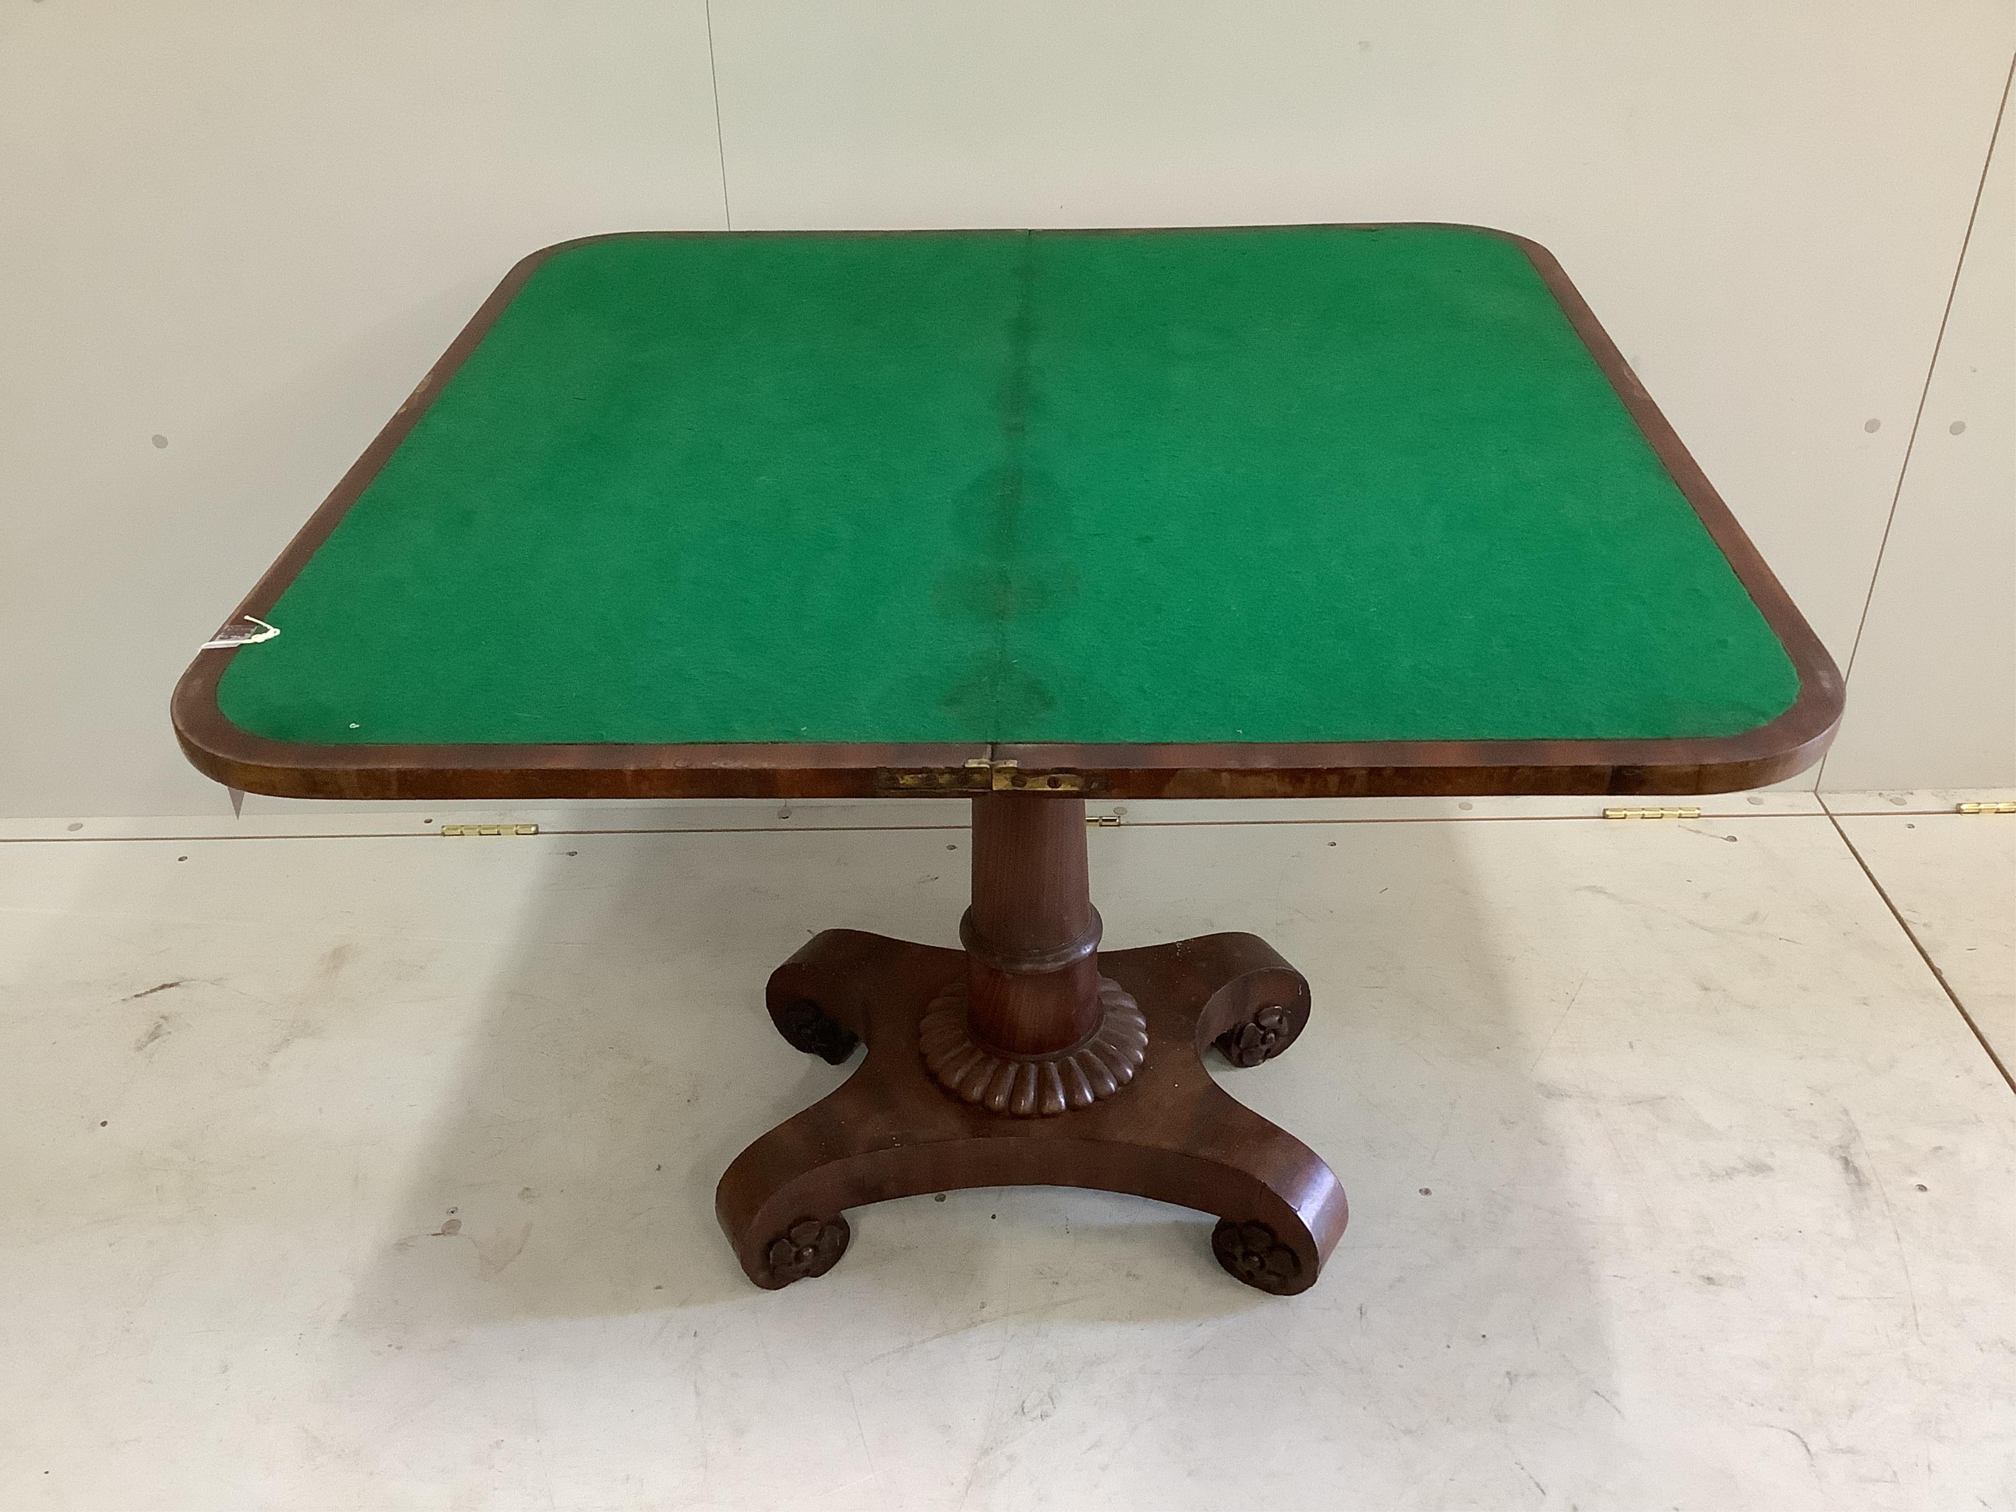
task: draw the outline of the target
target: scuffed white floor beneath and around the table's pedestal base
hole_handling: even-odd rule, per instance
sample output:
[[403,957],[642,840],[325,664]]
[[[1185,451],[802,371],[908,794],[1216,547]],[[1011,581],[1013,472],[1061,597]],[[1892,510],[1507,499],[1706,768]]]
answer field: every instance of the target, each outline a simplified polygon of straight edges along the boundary
[[845,1075],[764,976],[952,941],[962,831],[0,845],[0,1508],[2012,1508],[2016,1093],[1919,943],[2016,1058],[2016,818],[1843,825],[1095,831],[1111,943],[1314,984],[1228,1073],[1351,1193],[1292,1300],[1054,1189],[742,1278]]

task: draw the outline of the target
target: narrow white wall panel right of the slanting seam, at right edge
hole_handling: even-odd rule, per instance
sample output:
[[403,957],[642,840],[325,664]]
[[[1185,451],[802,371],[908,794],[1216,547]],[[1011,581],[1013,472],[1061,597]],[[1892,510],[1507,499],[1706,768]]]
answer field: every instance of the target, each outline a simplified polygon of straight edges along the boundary
[[2016,145],[2006,117],[1820,786],[2016,786]]

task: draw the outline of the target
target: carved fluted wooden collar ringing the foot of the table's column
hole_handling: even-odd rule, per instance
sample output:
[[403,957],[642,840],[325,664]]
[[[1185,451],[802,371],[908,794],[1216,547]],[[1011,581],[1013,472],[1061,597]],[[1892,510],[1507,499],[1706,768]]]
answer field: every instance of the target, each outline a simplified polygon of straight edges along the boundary
[[1099,978],[1099,1028],[1056,1054],[1016,1056],[978,1044],[966,1004],[960,976],[923,1010],[917,1048],[939,1087],[988,1113],[1028,1119],[1091,1107],[1131,1083],[1147,1058],[1147,1018],[1113,978]]

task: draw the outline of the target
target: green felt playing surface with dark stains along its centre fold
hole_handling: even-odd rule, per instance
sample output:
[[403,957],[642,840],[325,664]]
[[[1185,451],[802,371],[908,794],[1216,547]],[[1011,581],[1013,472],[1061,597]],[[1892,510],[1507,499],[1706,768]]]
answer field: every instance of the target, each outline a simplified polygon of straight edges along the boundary
[[548,258],[236,653],[308,742],[1736,734],[1796,673],[1458,228]]

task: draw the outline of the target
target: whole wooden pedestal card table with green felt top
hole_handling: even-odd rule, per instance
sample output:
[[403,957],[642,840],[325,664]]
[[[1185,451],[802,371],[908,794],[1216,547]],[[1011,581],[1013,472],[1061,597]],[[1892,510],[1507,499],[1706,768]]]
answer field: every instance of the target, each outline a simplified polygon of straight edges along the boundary
[[546,248],[230,623],[173,716],[252,792],[972,802],[960,950],[770,978],[867,1054],[722,1177],[758,1286],[1006,1183],[1316,1280],[1337,1177],[1204,1060],[1286,1050],[1308,984],[1246,933],[1101,952],[1087,798],[1728,790],[1841,714],[1556,262],[1466,226]]

